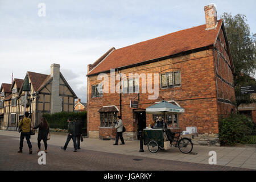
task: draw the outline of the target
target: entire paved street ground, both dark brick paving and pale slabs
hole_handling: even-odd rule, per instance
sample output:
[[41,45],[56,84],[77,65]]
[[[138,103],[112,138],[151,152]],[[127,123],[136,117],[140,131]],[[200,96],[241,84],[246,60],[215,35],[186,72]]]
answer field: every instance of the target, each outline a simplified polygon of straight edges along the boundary
[[[152,154],[144,146],[139,151],[139,141],[126,141],[125,145],[113,146],[113,141],[85,138],[81,150],[73,152],[72,141],[67,151],[60,150],[65,135],[51,135],[48,141],[47,165],[39,165],[36,154],[37,134],[31,137],[34,153],[28,155],[26,139],[23,154],[19,149],[19,133],[0,130],[1,170],[240,170],[256,169],[255,147],[207,147],[194,146],[197,155],[182,154],[171,148]],[[42,142],[43,147],[43,142]],[[217,165],[209,165],[209,151],[217,152]],[[20,158],[20,156],[23,156]],[[64,160],[65,159],[65,160]],[[134,160],[142,159],[142,160]]]

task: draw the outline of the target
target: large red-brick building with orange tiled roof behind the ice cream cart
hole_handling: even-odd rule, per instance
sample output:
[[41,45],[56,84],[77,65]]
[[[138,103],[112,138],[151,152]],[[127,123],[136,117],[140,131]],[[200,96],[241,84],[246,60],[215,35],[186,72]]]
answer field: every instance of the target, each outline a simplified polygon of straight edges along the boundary
[[[218,134],[218,116],[236,109],[232,105],[234,67],[223,20],[217,20],[213,5],[205,6],[204,11],[205,24],[201,26],[119,49],[113,47],[88,65],[89,137],[114,138],[114,122],[117,115],[122,115],[124,138],[137,139],[138,130],[158,118],[146,114],[146,108],[162,100],[185,110],[166,116],[167,122],[174,119],[175,129],[196,126],[200,134]],[[108,84],[98,79],[100,73],[108,78]],[[121,73],[127,76],[126,80],[123,76],[117,78]],[[146,78],[129,77],[129,73],[144,73]],[[149,91],[142,93],[142,84],[151,80],[153,85],[159,82],[154,86],[159,93],[155,99],[149,99]],[[111,92],[114,86],[122,92]],[[137,108],[131,107],[131,101],[138,102]]]

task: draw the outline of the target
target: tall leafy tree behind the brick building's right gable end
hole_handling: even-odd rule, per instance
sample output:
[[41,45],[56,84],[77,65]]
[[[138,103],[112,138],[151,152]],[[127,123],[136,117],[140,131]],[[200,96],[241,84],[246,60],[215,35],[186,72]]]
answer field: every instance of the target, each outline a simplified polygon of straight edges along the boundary
[[251,79],[256,71],[256,34],[250,33],[249,24],[246,24],[245,15],[224,13],[221,15],[224,19],[226,35],[228,37],[230,51],[234,63],[234,87],[236,93],[236,105],[241,103],[252,103],[249,94],[241,94],[241,86],[256,85],[256,81]]

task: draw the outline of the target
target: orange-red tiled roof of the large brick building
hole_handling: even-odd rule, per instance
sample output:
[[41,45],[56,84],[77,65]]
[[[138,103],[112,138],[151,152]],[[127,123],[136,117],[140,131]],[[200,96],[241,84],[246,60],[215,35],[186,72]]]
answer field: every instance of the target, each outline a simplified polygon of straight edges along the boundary
[[[102,59],[102,57],[100,58],[100,60],[103,61],[92,68],[88,76],[109,71],[114,68],[125,67],[143,61],[154,60],[160,57],[213,45],[216,42],[221,25],[222,19],[218,20],[217,27],[212,30],[205,30],[206,26],[203,24],[131,46],[114,49],[105,60]],[[98,63],[98,61],[95,63]],[[93,65],[95,65],[95,63]]]

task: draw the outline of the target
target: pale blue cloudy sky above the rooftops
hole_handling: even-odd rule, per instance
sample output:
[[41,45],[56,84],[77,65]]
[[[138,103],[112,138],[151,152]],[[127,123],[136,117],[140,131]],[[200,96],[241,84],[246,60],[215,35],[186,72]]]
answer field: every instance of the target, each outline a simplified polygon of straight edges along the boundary
[[[45,5],[45,16],[42,6]],[[244,14],[256,33],[256,1],[0,0],[0,82],[27,71],[49,74],[52,63],[81,102],[86,102],[87,65],[110,48],[121,48],[205,24],[204,6],[217,15]]]

